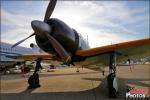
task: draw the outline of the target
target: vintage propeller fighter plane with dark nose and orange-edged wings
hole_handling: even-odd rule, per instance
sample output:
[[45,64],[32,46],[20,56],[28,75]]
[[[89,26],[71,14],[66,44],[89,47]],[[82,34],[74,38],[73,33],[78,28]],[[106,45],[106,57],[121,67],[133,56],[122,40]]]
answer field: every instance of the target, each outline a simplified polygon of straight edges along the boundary
[[[51,0],[45,14],[44,21],[34,20],[31,26],[34,33],[29,37],[17,42],[15,47],[35,35],[37,45],[49,54],[41,55],[41,58],[59,57],[66,64],[86,66],[90,64],[102,63],[109,66],[108,91],[109,97],[117,95],[116,80],[116,58],[117,61],[127,60],[147,56],[150,53],[150,38],[128,41],[118,44],[106,45],[102,47],[90,48],[87,41],[75,30],[57,18],[50,18],[57,0]],[[40,58],[40,55],[28,55],[28,57]],[[47,59],[47,58],[46,58]],[[37,62],[40,63],[41,61]],[[37,69],[36,75],[32,75],[29,80],[31,87],[39,85]],[[34,84],[33,84],[34,83]]]

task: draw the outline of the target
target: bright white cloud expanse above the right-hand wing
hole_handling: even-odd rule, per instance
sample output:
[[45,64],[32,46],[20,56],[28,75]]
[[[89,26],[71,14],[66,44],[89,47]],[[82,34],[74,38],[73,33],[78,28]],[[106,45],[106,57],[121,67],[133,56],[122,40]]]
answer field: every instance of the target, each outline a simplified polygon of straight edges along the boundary
[[[67,5],[67,3],[69,5]],[[53,16],[62,19],[85,37],[89,35],[89,43],[92,47],[95,47],[110,44],[113,41],[117,43],[135,39],[133,37],[123,37],[124,34],[139,34],[136,30],[128,29],[122,24],[132,24],[141,20],[148,20],[145,19],[145,16],[135,16],[138,13],[144,12],[145,9],[139,8],[131,10],[127,8],[126,4],[127,2],[108,3],[80,1],[72,3],[72,1],[67,1],[62,2],[62,4],[59,5],[61,7],[55,9],[56,13],[54,13]],[[115,22],[115,19],[119,20],[119,23]],[[91,27],[93,24],[97,27],[100,25],[111,27],[113,30],[98,29],[95,28],[95,26]]]

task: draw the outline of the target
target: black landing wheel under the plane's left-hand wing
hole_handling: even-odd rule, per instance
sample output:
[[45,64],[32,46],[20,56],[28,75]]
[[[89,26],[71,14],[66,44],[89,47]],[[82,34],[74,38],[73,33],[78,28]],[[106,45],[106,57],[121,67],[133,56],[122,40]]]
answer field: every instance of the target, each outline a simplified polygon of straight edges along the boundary
[[31,75],[28,79],[29,88],[40,87],[39,84],[39,75],[37,73]]

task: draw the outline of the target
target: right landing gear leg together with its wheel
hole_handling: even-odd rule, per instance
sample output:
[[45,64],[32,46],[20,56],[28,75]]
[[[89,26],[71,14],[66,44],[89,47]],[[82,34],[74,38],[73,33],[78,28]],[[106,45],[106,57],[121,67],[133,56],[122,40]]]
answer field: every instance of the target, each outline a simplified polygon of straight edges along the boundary
[[107,76],[109,98],[116,98],[118,85],[116,78],[116,53],[110,53],[109,75]]

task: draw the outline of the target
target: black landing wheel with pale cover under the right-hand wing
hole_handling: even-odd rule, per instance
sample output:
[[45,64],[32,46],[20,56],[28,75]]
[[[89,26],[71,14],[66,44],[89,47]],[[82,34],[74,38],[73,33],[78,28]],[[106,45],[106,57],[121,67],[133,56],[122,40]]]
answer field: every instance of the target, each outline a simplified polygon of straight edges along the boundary
[[117,79],[114,73],[107,77],[109,98],[116,98],[118,93]]

